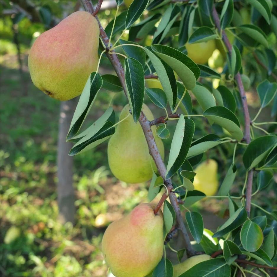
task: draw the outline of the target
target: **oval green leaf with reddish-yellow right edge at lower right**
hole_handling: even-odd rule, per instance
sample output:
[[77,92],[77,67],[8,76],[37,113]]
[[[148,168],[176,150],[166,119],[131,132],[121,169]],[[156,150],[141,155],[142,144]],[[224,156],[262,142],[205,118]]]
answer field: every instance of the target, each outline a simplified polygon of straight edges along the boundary
[[247,220],[242,225],[240,240],[246,251],[255,252],[263,243],[263,231],[258,224]]

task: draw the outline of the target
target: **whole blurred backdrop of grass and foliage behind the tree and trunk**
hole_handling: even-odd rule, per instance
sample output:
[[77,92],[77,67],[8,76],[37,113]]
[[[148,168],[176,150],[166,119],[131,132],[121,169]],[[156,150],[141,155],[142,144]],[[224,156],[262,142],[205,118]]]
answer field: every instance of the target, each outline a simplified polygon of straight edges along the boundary
[[[103,263],[100,248],[105,227],[138,203],[147,201],[149,184],[130,186],[114,178],[108,169],[107,142],[102,143],[74,157],[76,224],[59,223],[56,193],[59,102],[46,97],[33,86],[27,56],[35,38],[79,9],[80,1],[20,2],[30,4],[32,8],[26,4],[28,12],[36,17],[31,20],[20,14],[20,9],[14,7],[19,4],[18,1],[0,2],[1,276],[105,276],[107,266]],[[120,11],[124,9],[127,8],[122,5]],[[161,9],[159,12],[163,14],[164,8]],[[100,12],[99,18],[106,26],[114,15],[115,9],[110,8]],[[123,38],[128,39],[127,36]],[[145,38],[146,44],[149,39],[151,37]],[[268,35],[268,41],[276,48],[274,34]],[[259,106],[255,86],[263,80],[265,73],[262,68],[257,72],[252,60],[251,55],[244,55],[244,74],[250,77],[252,84],[247,98],[253,116]],[[100,73],[110,72],[111,66],[107,59],[103,59]],[[115,95],[101,90],[86,120],[87,125],[103,114],[112,98],[113,108],[119,115],[127,103],[123,93]],[[145,102],[152,105],[148,98]],[[155,117],[163,115],[161,110],[152,107]],[[194,108],[197,110],[198,107]],[[265,109],[261,117],[268,119],[270,113],[271,107]],[[210,131],[209,125],[203,124],[200,119],[196,119],[195,124],[195,135],[199,134],[199,137],[203,132]],[[164,140],[166,156],[174,127],[174,123],[168,124],[171,137]],[[216,129],[216,126],[213,128],[215,133],[222,130]],[[218,162],[220,182],[228,169],[231,153],[230,146],[224,144],[204,155],[203,160],[208,156]],[[243,176],[237,176],[234,191],[244,182]],[[261,205],[273,205],[275,195],[273,182],[261,192]],[[202,210],[205,228],[215,231],[228,217],[227,206],[225,200],[206,199],[195,204],[194,209]],[[270,224],[276,228],[276,221]]]

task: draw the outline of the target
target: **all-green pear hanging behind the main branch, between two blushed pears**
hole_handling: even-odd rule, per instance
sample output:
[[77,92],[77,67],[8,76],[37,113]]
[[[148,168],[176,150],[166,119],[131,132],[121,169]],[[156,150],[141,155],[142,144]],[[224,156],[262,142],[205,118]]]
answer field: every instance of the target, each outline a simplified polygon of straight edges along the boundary
[[[119,116],[119,120],[124,119],[129,113],[129,105],[126,105]],[[150,109],[143,104],[142,111],[148,120],[153,120]],[[156,135],[156,126],[152,126],[154,139],[158,150],[164,157],[164,147],[162,140]],[[111,172],[119,180],[127,183],[141,183],[152,177],[152,168],[157,167],[149,154],[148,145],[140,126],[135,123],[130,115],[121,123],[108,143],[108,162]]]

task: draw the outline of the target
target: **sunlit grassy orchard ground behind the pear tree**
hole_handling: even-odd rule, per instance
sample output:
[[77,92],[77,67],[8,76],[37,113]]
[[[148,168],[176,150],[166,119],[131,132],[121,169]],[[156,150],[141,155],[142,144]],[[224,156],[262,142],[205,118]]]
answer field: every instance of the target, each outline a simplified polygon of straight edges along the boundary
[[[101,253],[105,227],[95,227],[95,217],[102,213],[115,220],[146,202],[149,183],[128,185],[114,178],[108,169],[107,142],[77,155],[74,157],[76,225],[61,225],[57,220],[56,194],[60,103],[33,86],[27,69],[27,52],[22,57],[24,86],[17,56],[9,52],[1,56],[1,275],[106,276],[107,266]],[[109,72],[102,69],[103,73]],[[101,90],[87,124],[103,114],[112,96],[113,93]],[[257,94],[250,92],[248,96],[255,106]],[[122,93],[116,96],[117,116],[126,103]],[[146,104],[151,108],[149,99]],[[257,109],[251,108],[252,115],[256,112]],[[263,111],[261,119],[267,119],[269,113],[270,110]],[[174,124],[168,125],[172,136]],[[171,138],[164,141],[166,149],[170,148],[170,141]],[[219,182],[225,171],[219,170]],[[243,176],[236,180],[243,181]],[[215,231],[228,218],[223,208],[226,205],[224,201],[206,199],[197,202],[194,210],[201,210],[204,227]],[[6,244],[5,234],[11,226],[16,226],[20,235]],[[174,239],[171,247],[180,249],[181,243],[181,238]],[[177,262],[174,252],[168,255]]]

